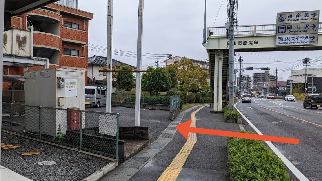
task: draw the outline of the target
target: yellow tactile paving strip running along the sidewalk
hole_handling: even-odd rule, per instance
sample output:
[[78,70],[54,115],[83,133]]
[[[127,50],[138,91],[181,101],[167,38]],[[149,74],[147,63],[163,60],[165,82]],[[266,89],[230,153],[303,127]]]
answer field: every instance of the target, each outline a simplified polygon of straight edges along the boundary
[[[196,127],[196,113],[203,109],[206,106],[203,106],[193,113],[191,113],[191,125],[190,127]],[[190,155],[191,150],[194,148],[194,145],[197,142],[197,134],[189,133],[189,139],[185,143],[185,145],[181,148],[177,156],[172,160],[171,164],[166,168],[166,170],[162,173],[162,175],[158,178],[158,181],[175,181],[182,167],[185,165],[185,161]]]

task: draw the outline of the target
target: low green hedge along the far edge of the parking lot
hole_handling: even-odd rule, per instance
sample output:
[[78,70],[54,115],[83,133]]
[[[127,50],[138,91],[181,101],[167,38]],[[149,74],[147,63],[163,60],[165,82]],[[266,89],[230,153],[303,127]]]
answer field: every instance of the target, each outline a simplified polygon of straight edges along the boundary
[[[170,105],[170,96],[145,96],[141,95],[141,104]],[[124,103],[135,103],[135,96],[127,96]]]

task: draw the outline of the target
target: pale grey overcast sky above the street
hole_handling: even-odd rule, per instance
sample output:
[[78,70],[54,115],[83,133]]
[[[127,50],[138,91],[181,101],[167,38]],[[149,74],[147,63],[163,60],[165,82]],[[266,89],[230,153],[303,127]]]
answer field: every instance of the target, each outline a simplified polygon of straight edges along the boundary
[[[300,0],[239,0],[238,2],[238,25],[275,24],[278,12],[320,10],[318,8],[322,7],[322,1],[316,0],[306,2]],[[136,52],[138,0],[114,0],[113,3],[113,48]],[[79,0],[79,9],[94,13],[94,19],[90,20],[89,43],[106,46],[107,0]],[[215,21],[218,10],[219,13]],[[213,26],[213,24],[214,26],[224,26],[226,22],[227,1],[208,0],[207,27]],[[171,53],[174,56],[204,60],[208,58],[208,53],[202,45],[203,26],[203,0],[145,0],[142,51],[156,54]],[[274,71],[276,67],[283,69],[292,66],[291,64],[296,64],[305,57],[322,56],[321,51],[252,53],[268,58],[242,52],[240,56],[243,56],[243,67],[269,66],[270,72]],[[89,57],[93,55],[106,56],[102,52],[89,51]],[[136,66],[136,58],[113,55],[113,59]],[[275,61],[271,59],[294,62],[268,63],[267,61]],[[159,59],[159,61],[162,60],[165,58]],[[155,61],[157,60],[143,59],[142,65]],[[237,67],[239,68],[239,66]],[[311,67],[321,67],[321,65],[312,64]],[[302,69],[302,66],[295,70],[297,69]],[[253,72],[258,71],[245,71],[243,74],[252,75]],[[275,75],[275,71],[272,75]],[[286,80],[290,76],[290,71],[278,71],[278,76],[279,81]]]

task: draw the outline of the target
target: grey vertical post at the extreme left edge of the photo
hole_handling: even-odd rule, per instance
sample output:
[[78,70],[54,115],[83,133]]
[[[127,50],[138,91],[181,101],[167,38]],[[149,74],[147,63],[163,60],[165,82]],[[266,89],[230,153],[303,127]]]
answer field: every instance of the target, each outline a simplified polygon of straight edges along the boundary
[[[0,45],[3,45],[3,28],[5,20],[5,0],[0,1]],[[3,69],[3,48],[0,48],[0,68]],[[0,76],[0,112],[2,112],[2,75]],[[0,143],[1,143],[1,124],[0,124]],[[1,148],[0,148],[0,162],[1,162]]]

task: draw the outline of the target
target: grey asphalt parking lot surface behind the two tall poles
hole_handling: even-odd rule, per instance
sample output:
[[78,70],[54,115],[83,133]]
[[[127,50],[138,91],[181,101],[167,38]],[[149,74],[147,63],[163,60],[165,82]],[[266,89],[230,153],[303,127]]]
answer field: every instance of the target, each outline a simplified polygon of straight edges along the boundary
[[[106,112],[106,107],[96,108],[95,106],[86,106],[86,110]],[[135,109],[126,107],[112,108],[112,112],[120,114],[120,126],[134,126],[134,111]],[[159,138],[161,133],[170,124],[170,111],[142,108],[140,113],[140,126],[149,127],[149,138],[150,143],[152,143]]]

